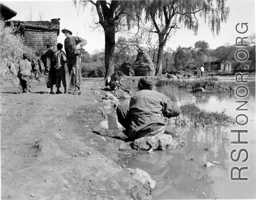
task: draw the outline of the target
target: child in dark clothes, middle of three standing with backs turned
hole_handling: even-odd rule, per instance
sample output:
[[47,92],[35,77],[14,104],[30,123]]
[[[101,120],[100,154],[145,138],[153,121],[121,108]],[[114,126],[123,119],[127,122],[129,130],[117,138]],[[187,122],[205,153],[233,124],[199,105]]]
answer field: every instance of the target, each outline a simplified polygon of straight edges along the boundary
[[54,94],[53,85],[56,84],[56,72],[52,61],[54,52],[52,49],[53,44],[51,42],[47,43],[47,50],[41,55],[41,60],[43,61],[45,68],[46,86],[51,89],[49,94]]

